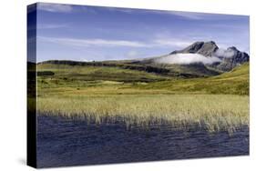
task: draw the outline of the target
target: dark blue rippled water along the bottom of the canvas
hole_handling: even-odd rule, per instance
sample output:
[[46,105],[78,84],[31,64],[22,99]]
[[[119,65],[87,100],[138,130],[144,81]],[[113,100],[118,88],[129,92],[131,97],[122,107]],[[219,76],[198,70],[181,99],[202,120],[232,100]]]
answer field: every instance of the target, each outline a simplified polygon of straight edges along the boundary
[[37,117],[37,166],[77,166],[249,154],[249,130],[127,129],[122,124],[87,125],[62,117]]

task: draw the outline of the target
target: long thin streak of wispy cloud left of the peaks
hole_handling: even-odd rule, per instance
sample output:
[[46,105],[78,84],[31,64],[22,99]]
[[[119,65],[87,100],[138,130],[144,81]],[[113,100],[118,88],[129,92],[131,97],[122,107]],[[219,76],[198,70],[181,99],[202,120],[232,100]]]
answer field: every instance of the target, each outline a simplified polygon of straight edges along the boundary
[[130,40],[113,40],[113,39],[77,39],[77,38],[59,38],[59,37],[46,37],[37,36],[39,41],[51,42],[60,45],[73,45],[73,46],[127,46],[127,47],[161,47],[161,46],[175,46],[185,47],[190,45],[190,42],[180,40],[167,40],[156,39],[148,42],[130,41]]

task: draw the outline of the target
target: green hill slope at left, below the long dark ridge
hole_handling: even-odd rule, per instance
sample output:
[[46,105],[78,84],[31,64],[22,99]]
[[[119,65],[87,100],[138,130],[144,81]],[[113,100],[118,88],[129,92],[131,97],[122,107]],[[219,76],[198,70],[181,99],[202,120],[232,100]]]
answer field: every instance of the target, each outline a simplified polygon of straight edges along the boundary
[[[81,63],[84,64],[84,63]],[[43,75],[51,72],[52,75]],[[64,65],[60,64],[40,64],[37,65],[37,75],[51,77],[51,82],[61,83],[86,82],[86,81],[118,81],[125,83],[132,82],[156,82],[169,80],[168,76],[157,75],[145,71],[123,69],[116,66],[100,65]]]

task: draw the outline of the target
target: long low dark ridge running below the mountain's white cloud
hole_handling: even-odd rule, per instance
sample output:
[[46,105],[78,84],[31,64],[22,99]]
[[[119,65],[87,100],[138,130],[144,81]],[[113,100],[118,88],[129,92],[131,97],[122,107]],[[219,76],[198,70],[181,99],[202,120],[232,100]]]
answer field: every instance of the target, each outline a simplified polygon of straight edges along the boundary
[[148,74],[155,74],[169,77],[179,78],[193,78],[193,77],[207,77],[212,75],[220,75],[220,71],[214,70],[206,65],[200,63],[190,65],[166,65],[157,64],[148,60],[120,60],[120,61],[102,61],[102,62],[78,62],[65,60],[50,60],[37,64],[39,68],[44,68],[46,65],[52,65],[54,68],[57,65],[69,66],[93,66],[117,68],[132,70],[134,72],[144,72]]

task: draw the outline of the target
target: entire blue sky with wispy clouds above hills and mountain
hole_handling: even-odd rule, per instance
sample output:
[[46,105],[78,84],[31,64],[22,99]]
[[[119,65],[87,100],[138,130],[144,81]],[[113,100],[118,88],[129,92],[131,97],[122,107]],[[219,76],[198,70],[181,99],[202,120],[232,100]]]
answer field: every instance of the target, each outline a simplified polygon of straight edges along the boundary
[[166,55],[196,41],[249,53],[249,16],[37,4],[37,62]]

